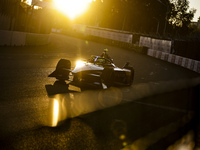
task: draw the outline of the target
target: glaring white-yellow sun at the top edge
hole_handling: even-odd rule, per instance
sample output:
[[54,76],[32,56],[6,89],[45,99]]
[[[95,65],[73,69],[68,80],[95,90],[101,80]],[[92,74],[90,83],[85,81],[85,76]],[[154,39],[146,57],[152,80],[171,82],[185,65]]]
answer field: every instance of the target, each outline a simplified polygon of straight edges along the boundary
[[70,19],[84,13],[93,0],[53,0],[56,9],[67,15]]

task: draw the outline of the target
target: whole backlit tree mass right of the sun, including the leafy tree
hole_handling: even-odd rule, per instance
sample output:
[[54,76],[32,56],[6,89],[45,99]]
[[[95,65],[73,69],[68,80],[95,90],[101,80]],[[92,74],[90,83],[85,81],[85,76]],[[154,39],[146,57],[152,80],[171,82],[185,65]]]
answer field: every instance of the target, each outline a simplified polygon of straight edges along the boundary
[[126,31],[187,34],[195,13],[188,9],[188,0],[96,0],[86,22]]

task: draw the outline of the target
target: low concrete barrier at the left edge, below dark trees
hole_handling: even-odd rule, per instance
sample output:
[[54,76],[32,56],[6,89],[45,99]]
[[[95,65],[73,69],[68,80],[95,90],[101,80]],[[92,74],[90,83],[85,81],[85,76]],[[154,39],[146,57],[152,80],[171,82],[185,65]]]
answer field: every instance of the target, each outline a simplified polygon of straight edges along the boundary
[[46,45],[49,42],[49,34],[0,30],[0,46]]

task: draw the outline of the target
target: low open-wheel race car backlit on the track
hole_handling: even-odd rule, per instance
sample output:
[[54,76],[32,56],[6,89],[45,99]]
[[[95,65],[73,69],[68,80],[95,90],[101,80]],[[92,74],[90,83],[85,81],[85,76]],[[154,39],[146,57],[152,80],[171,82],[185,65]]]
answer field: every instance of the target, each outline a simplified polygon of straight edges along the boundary
[[113,60],[102,56],[91,56],[88,60],[76,62],[71,70],[71,62],[60,59],[56,70],[48,77],[55,77],[60,81],[78,87],[97,87],[106,89],[110,86],[129,86],[133,83],[134,69],[127,62],[123,68],[116,67]]

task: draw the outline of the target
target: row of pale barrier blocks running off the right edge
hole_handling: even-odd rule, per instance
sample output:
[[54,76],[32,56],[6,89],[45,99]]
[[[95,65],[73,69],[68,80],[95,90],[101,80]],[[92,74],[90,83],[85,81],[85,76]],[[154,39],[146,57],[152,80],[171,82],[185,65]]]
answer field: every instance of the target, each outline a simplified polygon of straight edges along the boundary
[[200,73],[200,61],[185,58],[182,56],[177,56],[174,54],[169,54],[157,50],[148,49],[147,55],[174,63],[176,65],[182,66],[184,68],[193,70]]

